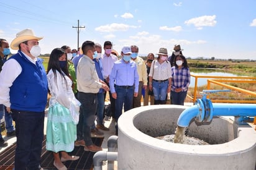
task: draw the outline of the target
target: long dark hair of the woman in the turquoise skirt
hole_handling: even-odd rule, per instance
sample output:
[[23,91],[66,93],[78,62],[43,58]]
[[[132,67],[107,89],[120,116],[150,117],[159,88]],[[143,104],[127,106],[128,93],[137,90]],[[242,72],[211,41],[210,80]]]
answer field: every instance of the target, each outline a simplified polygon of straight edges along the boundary
[[[66,64],[66,67],[61,68],[60,61],[58,60],[63,54],[65,54],[65,56],[66,56],[66,53],[62,48],[53,49],[52,53],[50,54],[50,58],[49,58],[49,62],[48,62],[47,74],[52,69],[54,77],[55,77],[55,82],[57,82],[57,78],[56,78],[56,70],[57,70],[62,75],[62,77],[64,78],[65,83],[67,85],[65,75],[70,77],[70,74],[68,72],[68,64]],[[67,58],[66,58],[66,61],[67,61]]]

